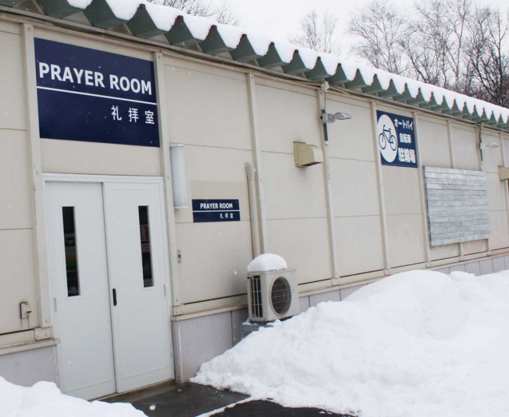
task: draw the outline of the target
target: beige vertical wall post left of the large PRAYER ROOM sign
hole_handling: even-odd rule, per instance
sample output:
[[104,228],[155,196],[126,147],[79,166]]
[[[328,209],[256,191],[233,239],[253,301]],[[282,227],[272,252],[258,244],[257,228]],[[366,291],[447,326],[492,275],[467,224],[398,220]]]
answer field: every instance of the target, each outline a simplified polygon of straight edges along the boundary
[[51,325],[49,276],[47,268],[46,230],[44,224],[44,190],[42,180],[41,139],[39,137],[39,112],[37,107],[36,62],[34,26],[23,24],[23,61],[26,86],[27,134],[29,136],[29,160],[32,167],[30,179],[34,191],[32,205],[34,227],[35,273],[39,286],[39,325]]

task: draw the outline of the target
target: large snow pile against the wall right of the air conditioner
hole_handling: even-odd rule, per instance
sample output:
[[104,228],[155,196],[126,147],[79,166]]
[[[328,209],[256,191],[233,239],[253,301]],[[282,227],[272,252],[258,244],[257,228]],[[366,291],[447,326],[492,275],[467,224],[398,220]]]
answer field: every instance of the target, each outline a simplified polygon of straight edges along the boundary
[[362,417],[509,413],[509,273],[411,271],[251,333],[194,382]]

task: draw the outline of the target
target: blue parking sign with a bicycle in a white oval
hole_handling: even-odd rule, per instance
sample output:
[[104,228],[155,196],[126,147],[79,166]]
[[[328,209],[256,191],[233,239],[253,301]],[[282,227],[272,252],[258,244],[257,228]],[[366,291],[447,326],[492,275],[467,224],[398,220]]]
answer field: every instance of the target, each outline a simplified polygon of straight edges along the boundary
[[377,140],[383,165],[417,168],[414,120],[377,110]]

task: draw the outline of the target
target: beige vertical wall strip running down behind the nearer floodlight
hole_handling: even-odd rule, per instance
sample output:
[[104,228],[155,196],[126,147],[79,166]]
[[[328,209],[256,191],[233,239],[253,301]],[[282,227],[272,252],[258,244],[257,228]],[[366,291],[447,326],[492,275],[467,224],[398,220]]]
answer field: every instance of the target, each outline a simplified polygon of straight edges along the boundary
[[[322,90],[318,91],[318,113],[317,118],[320,118],[322,114],[322,109],[326,108],[325,103],[325,93]],[[332,269],[332,285],[340,285],[340,271],[338,265],[338,253],[336,249],[336,234],[335,234],[335,223],[334,223],[334,205],[332,202],[332,189],[330,183],[330,166],[329,166],[329,144],[326,138],[326,129],[327,126],[325,124],[323,129],[320,129],[321,132],[321,144],[322,144],[322,152],[323,152],[323,177],[325,183],[325,199],[327,204],[327,226],[329,229],[329,251],[330,251],[330,266]],[[341,295],[340,295],[341,297]]]

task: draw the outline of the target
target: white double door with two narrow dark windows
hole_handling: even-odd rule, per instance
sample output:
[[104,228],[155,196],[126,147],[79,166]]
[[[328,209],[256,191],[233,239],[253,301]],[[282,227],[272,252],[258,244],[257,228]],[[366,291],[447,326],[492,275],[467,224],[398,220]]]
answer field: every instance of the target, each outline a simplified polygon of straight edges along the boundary
[[45,184],[61,390],[92,399],[172,379],[160,184]]

